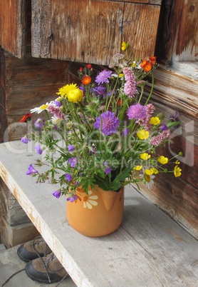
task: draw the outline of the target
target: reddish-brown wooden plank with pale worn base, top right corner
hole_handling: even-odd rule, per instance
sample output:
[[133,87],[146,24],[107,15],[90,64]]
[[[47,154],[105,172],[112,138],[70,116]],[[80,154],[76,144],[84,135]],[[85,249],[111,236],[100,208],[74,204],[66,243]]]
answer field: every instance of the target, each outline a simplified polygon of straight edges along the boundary
[[165,51],[172,61],[197,61],[198,0],[174,0],[170,16],[170,39]]

